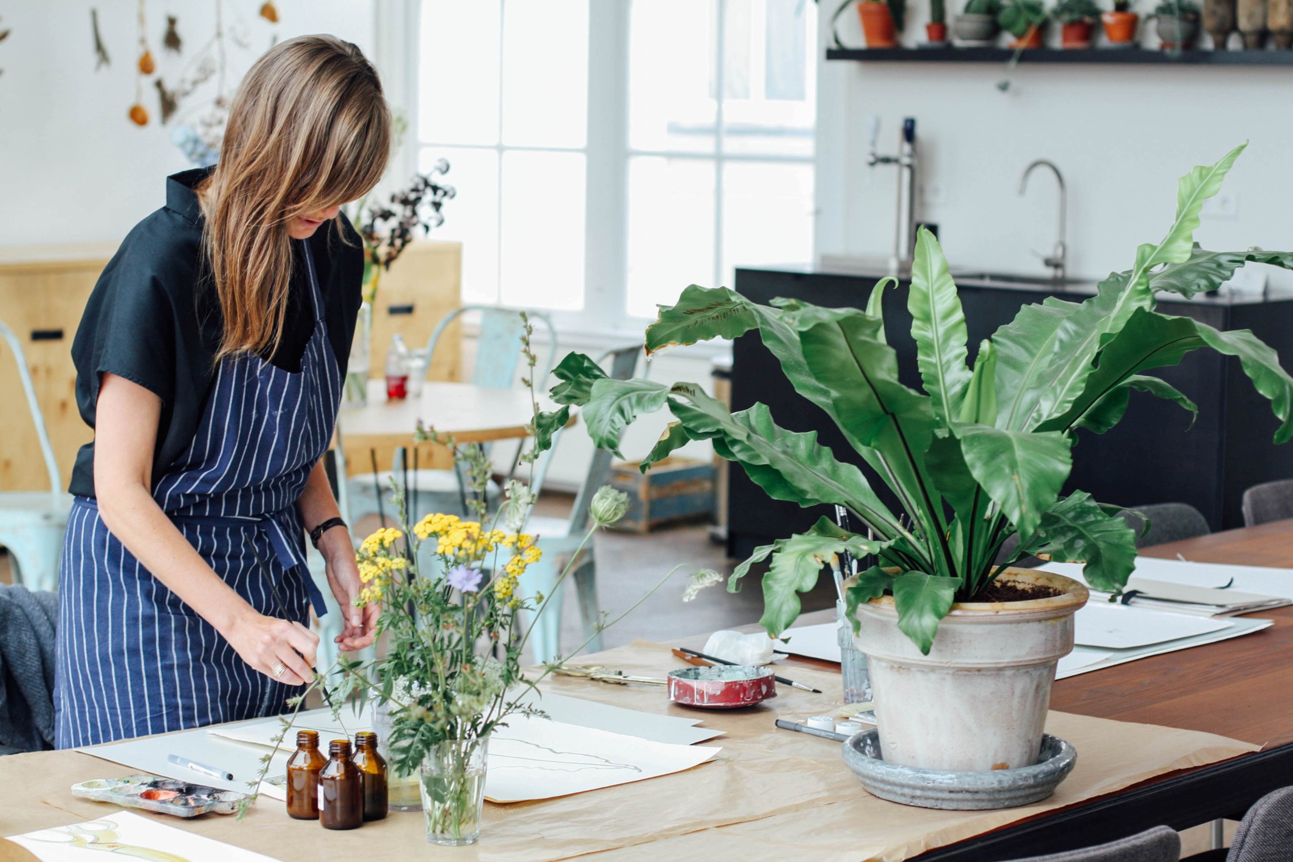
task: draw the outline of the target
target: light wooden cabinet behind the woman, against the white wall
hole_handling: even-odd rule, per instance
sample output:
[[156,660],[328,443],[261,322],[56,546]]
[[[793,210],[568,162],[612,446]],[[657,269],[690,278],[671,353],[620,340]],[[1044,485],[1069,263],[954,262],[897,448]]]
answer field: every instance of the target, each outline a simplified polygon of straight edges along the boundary
[[[112,244],[0,249],[0,321],[14,331],[27,354],[65,487],[76,450],[92,437],[76,412],[72,337],[85,301],[115,251]],[[460,273],[460,243],[424,240],[410,246],[381,274],[372,314],[374,376],[383,373],[392,332],[402,332],[410,346],[424,346],[436,323],[458,308]],[[436,350],[432,379],[459,379],[458,330],[456,323],[450,327]],[[365,451],[362,461],[367,460]],[[48,486],[17,364],[0,342],[0,490]]]

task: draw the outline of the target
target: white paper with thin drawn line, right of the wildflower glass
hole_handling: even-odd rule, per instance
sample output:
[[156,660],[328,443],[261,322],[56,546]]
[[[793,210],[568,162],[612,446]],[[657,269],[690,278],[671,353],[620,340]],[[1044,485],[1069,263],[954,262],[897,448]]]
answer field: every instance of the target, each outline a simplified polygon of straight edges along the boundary
[[521,803],[628,784],[698,766],[720,751],[513,716],[490,738],[485,799]]

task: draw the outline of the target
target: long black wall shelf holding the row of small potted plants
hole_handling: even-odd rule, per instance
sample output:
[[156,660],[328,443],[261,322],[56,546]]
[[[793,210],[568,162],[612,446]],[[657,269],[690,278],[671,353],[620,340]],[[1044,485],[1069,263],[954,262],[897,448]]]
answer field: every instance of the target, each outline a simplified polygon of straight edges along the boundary
[[[828,48],[826,59],[864,63],[1005,63],[1011,48]],[[1020,52],[1020,63],[1121,63],[1186,66],[1293,66],[1293,50],[1184,50],[1169,54],[1143,48],[1089,48],[1064,50],[1031,48]]]

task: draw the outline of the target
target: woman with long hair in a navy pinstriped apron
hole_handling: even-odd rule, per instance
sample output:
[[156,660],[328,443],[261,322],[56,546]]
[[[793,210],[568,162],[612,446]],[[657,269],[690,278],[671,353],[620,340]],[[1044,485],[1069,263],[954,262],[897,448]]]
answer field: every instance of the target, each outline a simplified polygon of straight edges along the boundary
[[325,613],[306,531],[340,647],[372,642],[322,457],[363,270],[340,204],[389,147],[359,49],[284,41],[239,87],[220,164],[169,177],[103,270],[72,345],[94,441],[61,563],[59,748],[281,712]]

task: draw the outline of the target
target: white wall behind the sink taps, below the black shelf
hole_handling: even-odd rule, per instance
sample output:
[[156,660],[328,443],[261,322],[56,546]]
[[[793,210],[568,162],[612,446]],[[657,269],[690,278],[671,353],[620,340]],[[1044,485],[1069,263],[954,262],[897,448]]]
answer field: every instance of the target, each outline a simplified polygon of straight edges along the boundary
[[896,172],[866,167],[871,114],[882,152],[895,151],[901,119],[917,118],[919,216],[939,224],[953,268],[1047,271],[1033,251],[1055,242],[1054,178],[1034,172],[1018,195],[1024,167],[1046,158],[1068,184],[1069,274],[1126,269],[1139,243],[1166,230],[1177,178],[1245,140],[1226,182],[1236,212],[1205,217],[1196,238],[1212,248],[1293,247],[1287,67],[1020,65],[1005,93],[1003,76],[1003,65],[822,61],[818,252],[892,248]]

